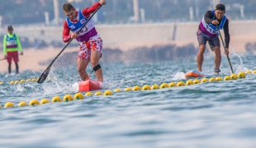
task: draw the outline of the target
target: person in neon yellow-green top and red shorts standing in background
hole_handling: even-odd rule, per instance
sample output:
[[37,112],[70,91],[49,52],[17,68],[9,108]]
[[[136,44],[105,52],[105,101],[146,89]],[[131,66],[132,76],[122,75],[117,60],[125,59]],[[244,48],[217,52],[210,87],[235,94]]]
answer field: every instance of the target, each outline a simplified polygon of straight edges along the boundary
[[8,62],[8,74],[11,75],[12,72],[12,58],[16,65],[16,74],[19,74],[19,53],[17,49],[20,50],[21,55],[23,55],[21,43],[18,35],[13,34],[12,25],[7,26],[7,35],[3,37],[3,55],[4,59],[7,59]]

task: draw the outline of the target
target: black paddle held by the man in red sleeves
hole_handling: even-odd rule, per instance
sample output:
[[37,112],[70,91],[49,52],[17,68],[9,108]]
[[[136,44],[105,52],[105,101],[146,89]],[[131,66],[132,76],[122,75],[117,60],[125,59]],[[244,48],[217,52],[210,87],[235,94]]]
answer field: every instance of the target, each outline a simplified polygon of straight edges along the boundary
[[[94,14],[97,12],[97,10],[99,10],[101,7],[102,7],[102,5],[99,6],[99,7],[97,7],[96,11],[92,13],[92,16],[94,16]],[[92,16],[90,16],[90,17],[88,18],[88,21],[90,21],[90,20],[92,19]],[[83,29],[83,27],[88,23],[88,21],[86,21],[86,22],[82,25],[82,27],[78,30],[77,34]],[[73,40],[73,39],[70,39],[70,40],[69,40],[69,43],[64,46],[64,49],[67,48],[67,46],[71,43],[72,40]],[[52,64],[55,62],[55,60],[59,57],[59,55],[64,51],[64,49],[62,49],[62,50],[59,52],[59,54],[56,56],[56,58],[55,58],[52,62],[50,62],[50,65],[46,68],[45,72],[43,72],[43,73],[41,74],[41,76],[39,77],[37,83],[41,84],[41,83],[43,83],[43,82],[45,81],[46,77],[48,76],[48,74],[49,74],[49,72],[50,72],[50,67],[51,67]]]

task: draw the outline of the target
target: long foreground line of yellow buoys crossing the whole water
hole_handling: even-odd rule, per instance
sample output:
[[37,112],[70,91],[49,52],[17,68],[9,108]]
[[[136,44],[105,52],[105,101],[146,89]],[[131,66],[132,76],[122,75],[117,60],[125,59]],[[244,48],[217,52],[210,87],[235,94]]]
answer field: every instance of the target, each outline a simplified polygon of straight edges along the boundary
[[[160,86],[158,86],[157,84],[154,84],[153,86],[148,86],[145,85],[142,88],[140,86],[134,86],[133,88],[127,87],[126,89],[124,89],[124,91],[140,91],[140,90],[157,90],[157,89],[164,89],[164,88],[169,88],[169,87],[180,87],[180,86],[192,86],[195,84],[200,84],[200,83],[206,83],[206,82],[213,82],[213,81],[232,81],[232,80],[237,80],[237,79],[243,79],[245,78],[246,74],[251,74],[254,73],[256,74],[256,71],[251,72],[251,71],[247,71],[247,72],[239,72],[237,75],[232,74],[230,76],[225,76],[223,79],[222,77],[218,76],[218,77],[211,77],[210,79],[207,78],[202,78],[201,81],[198,79],[195,80],[188,80],[186,83],[183,81],[178,81],[178,83],[176,82],[171,82],[171,83],[162,83]],[[29,104],[27,104],[25,101],[21,101],[19,104],[17,104],[17,107],[21,107],[21,106],[35,106],[35,105],[39,105],[39,104],[49,104],[51,103],[55,103],[55,102],[69,102],[69,101],[73,101],[73,100],[78,100],[78,99],[84,99],[85,96],[90,96],[90,95],[114,95],[114,93],[118,93],[118,92],[122,92],[121,89],[115,89],[113,92],[111,90],[106,90],[104,93],[102,93],[101,91],[97,91],[94,94],[92,92],[87,92],[85,95],[81,94],[81,93],[77,93],[75,95],[64,95],[63,99],[61,99],[59,96],[55,96],[53,97],[51,100],[49,99],[41,99],[40,101],[38,101],[37,99],[32,99]],[[12,102],[7,102],[4,105],[4,108],[13,108],[15,107],[15,105]],[[1,104],[0,104],[0,109],[2,108]]]

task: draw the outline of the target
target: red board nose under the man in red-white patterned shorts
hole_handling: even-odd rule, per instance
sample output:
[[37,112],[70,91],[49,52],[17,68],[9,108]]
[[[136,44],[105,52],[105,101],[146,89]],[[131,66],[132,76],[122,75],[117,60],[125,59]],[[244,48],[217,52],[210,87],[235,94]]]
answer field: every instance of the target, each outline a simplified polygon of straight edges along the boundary
[[87,80],[78,82],[79,92],[92,91],[92,90],[101,90],[102,82]]

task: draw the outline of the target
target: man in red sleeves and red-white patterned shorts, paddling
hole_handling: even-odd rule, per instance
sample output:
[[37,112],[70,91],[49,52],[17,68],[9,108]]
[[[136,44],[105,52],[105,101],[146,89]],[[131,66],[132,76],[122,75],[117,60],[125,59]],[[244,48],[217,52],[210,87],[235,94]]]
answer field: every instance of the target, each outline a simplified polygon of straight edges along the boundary
[[[102,68],[99,64],[99,59],[102,57],[102,39],[97,34],[97,30],[90,20],[87,25],[77,34],[83,23],[89,16],[97,10],[100,5],[105,5],[106,0],[101,0],[92,5],[92,7],[84,8],[77,11],[70,3],[65,3],[63,6],[64,14],[67,19],[64,21],[63,41],[69,42],[70,39],[77,39],[80,42],[78,52],[78,73],[82,81],[89,79],[86,67],[91,61],[93,71],[96,74],[97,81],[103,81]],[[72,34],[69,34],[70,30]]]

